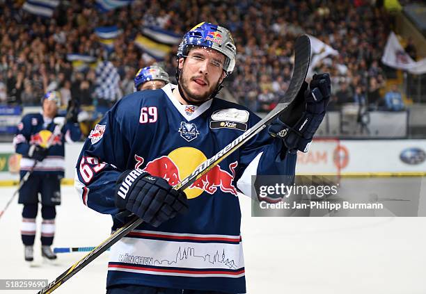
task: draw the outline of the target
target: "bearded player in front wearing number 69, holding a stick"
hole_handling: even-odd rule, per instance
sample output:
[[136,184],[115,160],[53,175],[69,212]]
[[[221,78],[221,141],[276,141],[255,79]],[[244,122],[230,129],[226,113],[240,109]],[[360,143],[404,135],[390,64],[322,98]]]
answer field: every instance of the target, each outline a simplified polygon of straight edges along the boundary
[[114,227],[126,213],[144,222],[111,248],[107,293],[246,292],[237,190],[251,195],[254,174],[294,174],[297,150],[324,117],[330,79],[303,86],[270,127],[274,136],[262,131],[186,190],[172,190],[260,120],[216,98],[235,57],[226,28],[198,24],[178,48],[178,85],[120,99],[86,140],[75,178],[84,204],[113,215]]

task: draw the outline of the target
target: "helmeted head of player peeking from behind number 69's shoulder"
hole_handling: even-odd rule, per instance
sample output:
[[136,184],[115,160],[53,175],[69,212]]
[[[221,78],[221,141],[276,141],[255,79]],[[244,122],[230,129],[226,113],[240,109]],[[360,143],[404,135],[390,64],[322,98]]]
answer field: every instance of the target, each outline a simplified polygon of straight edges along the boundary
[[168,73],[158,65],[141,68],[134,77],[135,91],[161,89],[170,83]]

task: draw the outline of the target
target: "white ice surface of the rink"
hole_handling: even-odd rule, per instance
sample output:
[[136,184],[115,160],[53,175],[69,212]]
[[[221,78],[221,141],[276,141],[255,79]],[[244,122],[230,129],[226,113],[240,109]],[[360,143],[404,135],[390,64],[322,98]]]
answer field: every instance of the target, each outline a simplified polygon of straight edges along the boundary
[[[0,188],[1,208],[14,190]],[[72,186],[63,186],[62,195],[54,247],[95,246],[107,238],[109,215],[84,206]],[[240,201],[248,293],[426,293],[426,218],[252,218],[249,199]],[[42,263],[38,235],[39,267],[30,268],[19,233],[21,210],[14,202],[0,218],[0,279],[52,281],[84,256],[58,254],[56,266]],[[105,293],[108,255],[54,293]]]

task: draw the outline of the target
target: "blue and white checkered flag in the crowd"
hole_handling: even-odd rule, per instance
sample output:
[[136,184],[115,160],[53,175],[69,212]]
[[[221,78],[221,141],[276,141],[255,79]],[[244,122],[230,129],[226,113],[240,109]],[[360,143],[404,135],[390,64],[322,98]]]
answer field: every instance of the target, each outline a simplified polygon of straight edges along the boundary
[[123,96],[119,85],[120,75],[111,61],[97,63],[96,76],[96,97],[116,101]]

